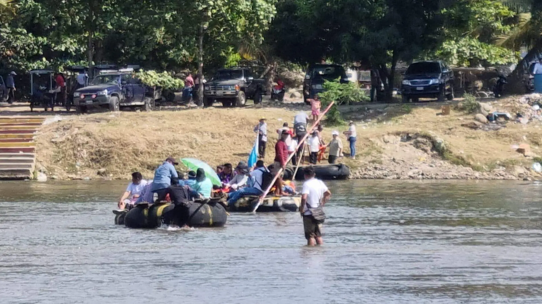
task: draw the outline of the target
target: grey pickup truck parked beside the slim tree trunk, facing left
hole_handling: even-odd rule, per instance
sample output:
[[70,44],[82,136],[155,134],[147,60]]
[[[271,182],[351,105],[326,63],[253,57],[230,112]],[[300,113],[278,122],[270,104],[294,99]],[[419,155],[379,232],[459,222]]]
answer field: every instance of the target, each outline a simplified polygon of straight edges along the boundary
[[250,69],[219,69],[204,86],[204,105],[210,107],[216,100],[222,102],[224,107],[241,107],[246,104],[247,98],[258,104],[265,93],[264,81],[254,79]]

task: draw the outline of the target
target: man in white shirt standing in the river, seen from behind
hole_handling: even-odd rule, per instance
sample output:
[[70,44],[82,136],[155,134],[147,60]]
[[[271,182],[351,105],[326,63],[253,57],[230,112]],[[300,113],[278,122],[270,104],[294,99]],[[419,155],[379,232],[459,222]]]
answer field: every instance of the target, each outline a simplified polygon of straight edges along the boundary
[[320,205],[323,207],[331,197],[331,191],[327,189],[326,184],[317,180],[315,175],[314,168],[305,168],[305,182],[301,190],[302,196],[299,206],[308,246],[324,243],[322,241],[322,224],[313,219],[311,209],[318,208]]

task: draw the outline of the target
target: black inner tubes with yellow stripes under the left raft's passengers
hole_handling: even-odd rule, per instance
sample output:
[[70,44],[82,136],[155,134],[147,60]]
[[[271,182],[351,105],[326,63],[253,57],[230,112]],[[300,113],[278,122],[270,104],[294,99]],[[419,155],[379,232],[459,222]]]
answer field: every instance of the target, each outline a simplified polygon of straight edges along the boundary
[[[190,227],[222,227],[228,220],[228,214],[220,203],[216,202],[190,202],[189,220],[186,224]],[[115,224],[123,224],[130,228],[157,228],[164,221],[164,216],[173,212],[175,206],[171,203],[138,205],[124,214],[115,216]]]

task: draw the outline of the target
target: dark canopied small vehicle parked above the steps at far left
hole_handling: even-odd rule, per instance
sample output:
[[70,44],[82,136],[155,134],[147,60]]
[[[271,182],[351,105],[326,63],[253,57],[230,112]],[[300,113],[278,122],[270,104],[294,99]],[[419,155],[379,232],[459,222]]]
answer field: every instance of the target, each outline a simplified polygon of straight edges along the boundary
[[54,101],[56,93],[50,93],[53,89],[53,75],[51,70],[31,70],[30,71],[30,111],[34,111],[37,106],[42,106],[47,111],[51,108],[54,111]]

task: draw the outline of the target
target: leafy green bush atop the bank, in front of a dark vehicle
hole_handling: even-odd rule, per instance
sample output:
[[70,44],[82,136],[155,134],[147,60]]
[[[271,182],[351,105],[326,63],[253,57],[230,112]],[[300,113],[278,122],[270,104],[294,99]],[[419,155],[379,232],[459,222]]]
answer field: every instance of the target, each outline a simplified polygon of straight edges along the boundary
[[365,92],[360,90],[358,85],[354,83],[340,83],[338,80],[326,80],[324,81],[324,89],[324,92],[318,94],[322,105],[327,107],[330,102],[335,102],[326,113],[326,125],[344,124],[343,117],[340,115],[337,105],[353,104],[369,100]]

